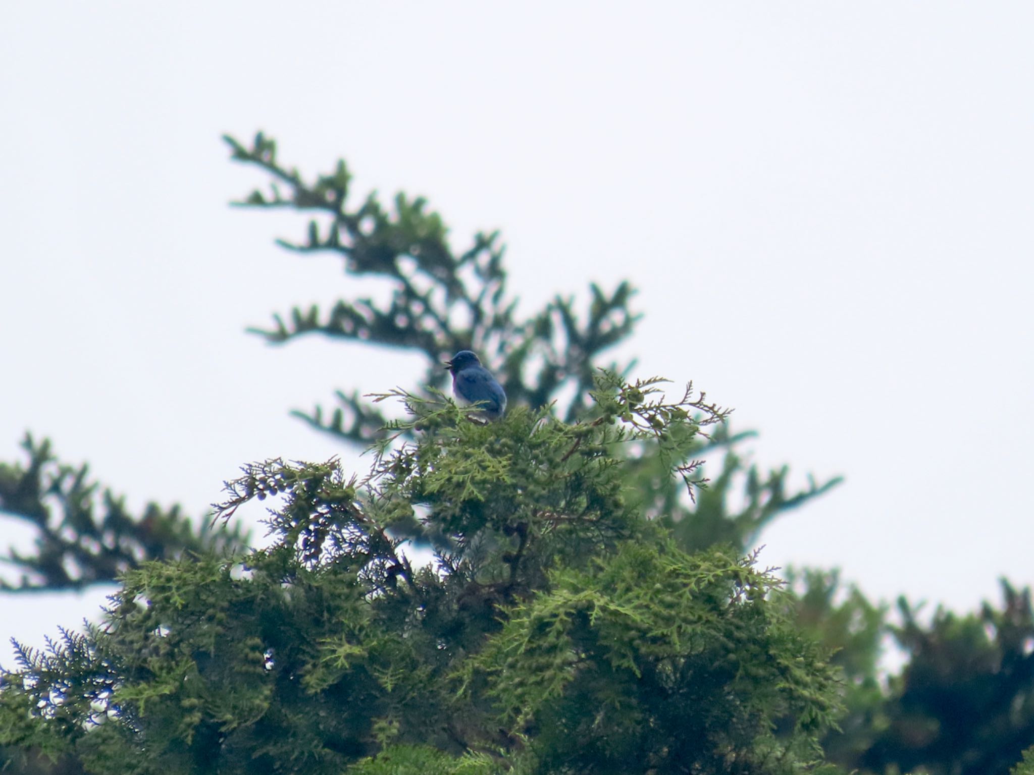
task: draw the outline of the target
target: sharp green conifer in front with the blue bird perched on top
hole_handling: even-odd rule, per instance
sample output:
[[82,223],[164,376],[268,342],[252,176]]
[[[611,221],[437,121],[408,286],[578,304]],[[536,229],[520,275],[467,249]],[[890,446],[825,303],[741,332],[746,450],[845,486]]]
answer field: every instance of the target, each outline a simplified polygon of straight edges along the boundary
[[625,497],[637,451],[680,479],[724,416],[656,384],[604,372],[573,424],[403,394],[363,482],[246,467],[217,514],[275,501],[272,545],[129,570],[101,626],[23,651],[0,744],[97,773],[814,770],[835,675],[778,582]]

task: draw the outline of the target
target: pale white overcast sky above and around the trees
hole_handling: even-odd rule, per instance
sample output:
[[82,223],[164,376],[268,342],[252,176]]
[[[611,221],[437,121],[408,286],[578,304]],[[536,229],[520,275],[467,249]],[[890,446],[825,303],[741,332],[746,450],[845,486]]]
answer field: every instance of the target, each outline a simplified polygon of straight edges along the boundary
[[[356,292],[273,246],[304,220],[226,207],[265,179],[219,135],[263,129],[428,195],[456,248],[500,227],[525,312],[632,279],[615,354],[735,406],[759,463],[847,476],[764,562],[960,610],[1030,583],[1034,6],[631,8],[4,3],[0,459],[31,429],[194,515],[251,460],[354,464],[287,410],[422,369],[244,333]],[[0,596],[0,638],[108,591]]]

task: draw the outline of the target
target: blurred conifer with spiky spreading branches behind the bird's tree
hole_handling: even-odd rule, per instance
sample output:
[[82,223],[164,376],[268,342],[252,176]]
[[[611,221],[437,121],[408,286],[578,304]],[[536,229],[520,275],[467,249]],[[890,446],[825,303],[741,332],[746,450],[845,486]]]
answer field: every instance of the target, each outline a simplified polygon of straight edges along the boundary
[[[443,218],[422,197],[403,193],[386,208],[375,194],[354,205],[352,175],[344,161],[312,181],[277,160],[276,144],[258,133],[250,147],[225,137],[233,158],[256,166],[272,180],[268,191],[254,190],[242,207],[293,209],[312,216],[300,242],[278,240],[295,252],[329,252],[339,256],[355,280],[375,279],[392,285],[381,304],[359,295],[338,301],[329,312],[294,308],[275,315],[272,328],[250,331],[272,343],[302,336],[360,342],[421,353],[426,372],[419,395],[445,384],[444,358],[473,347],[490,364],[507,390],[511,406],[534,409],[573,395],[559,411],[571,421],[588,401],[596,369],[605,366],[628,374],[630,365],[603,361],[605,351],[627,339],[639,315],[631,309],[635,290],[622,282],[613,291],[589,286],[587,299],[557,296],[543,309],[522,317],[507,287],[505,247],[498,233],[479,233],[462,252],[452,249]],[[304,422],[339,438],[365,446],[379,438],[386,417],[362,398],[376,385],[338,391],[333,408],[296,411]],[[699,502],[687,503],[677,483],[663,474],[664,465],[644,458],[630,461],[629,476],[644,504],[667,520],[683,547],[727,542],[747,548],[772,519],[795,508],[839,483],[812,483],[800,492],[787,491],[786,467],[763,472],[743,463],[736,448],[753,434],[730,434],[725,426],[709,438],[696,439],[695,454],[710,457],[727,451],[720,474]],[[73,589],[115,581],[142,560],[185,553],[221,551],[241,546],[240,532],[211,532],[207,521],[191,523],[177,506],[148,504],[130,514],[112,488],[89,477],[86,465],[59,461],[49,440],[29,434],[23,441],[27,461],[0,462],[0,514],[30,525],[36,534],[31,554],[9,553],[5,564],[19,571],[14,581],[0,579],[0,589],[39,591]],[[697,478],[702,473],[697,471]],[[741,505],[729,506],[730,496]],[[686,519],[693,515],[693,519]]]

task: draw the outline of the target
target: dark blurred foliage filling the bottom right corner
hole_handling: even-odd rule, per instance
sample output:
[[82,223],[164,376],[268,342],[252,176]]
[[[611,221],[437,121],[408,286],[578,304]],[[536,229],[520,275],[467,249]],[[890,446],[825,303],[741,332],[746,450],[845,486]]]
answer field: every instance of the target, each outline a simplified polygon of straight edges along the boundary
[[[1030,591],[1002,582],[1003,603],[959,616],[938,609],[929,622],[904,598],[892,626],[835,571],[786,574],[793,618],[833,651],[846,714],[823,737],[826,756],[859,775],[1006,775],[1034,740],[1034,619]],[[893,639],[909,661],[884,688],[877,660]],[[1023,772],[1021,769],[1020,772]]]

